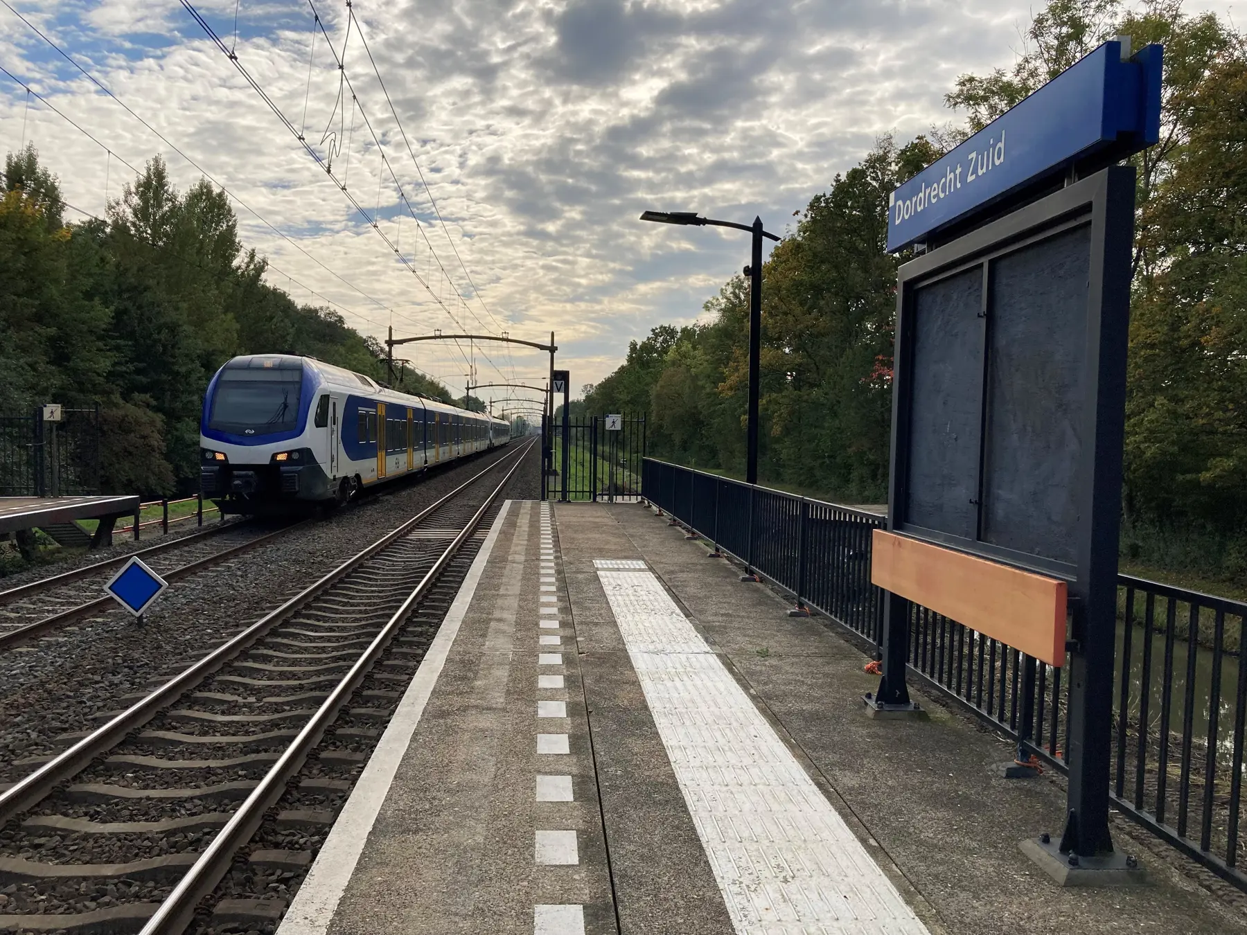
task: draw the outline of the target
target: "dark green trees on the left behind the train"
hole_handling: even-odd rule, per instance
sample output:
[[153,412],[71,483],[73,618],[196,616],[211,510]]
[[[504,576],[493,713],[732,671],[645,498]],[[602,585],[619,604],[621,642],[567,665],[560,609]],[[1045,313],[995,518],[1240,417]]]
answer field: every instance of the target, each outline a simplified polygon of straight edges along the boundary
[[[224,193],[207,181],[178,192],[160,157],[106,221],[66,224],[34,147],[10,153],[0,269],[0,409],[100,403],[106,491],[196,489],[203,390],[237,354],[304,354],[390,383],[375,338],[268,285]],[[393,383],[450,400],[403,367]]]

